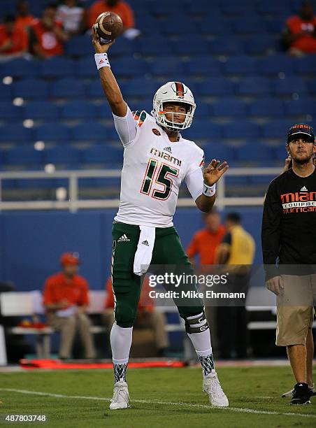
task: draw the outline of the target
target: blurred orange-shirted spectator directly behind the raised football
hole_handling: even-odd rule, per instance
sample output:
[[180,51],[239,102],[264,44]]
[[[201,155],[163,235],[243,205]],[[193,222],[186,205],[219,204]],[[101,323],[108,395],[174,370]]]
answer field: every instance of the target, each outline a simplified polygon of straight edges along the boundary
[[98,0],[92,3],[88,11],[88,25],[91,28],[96,18],[103,12],[114,12],[119,15],[123,22],[124,36],[135,38],[141,31],[135,28],[134,13],[131,6],[122,0]]

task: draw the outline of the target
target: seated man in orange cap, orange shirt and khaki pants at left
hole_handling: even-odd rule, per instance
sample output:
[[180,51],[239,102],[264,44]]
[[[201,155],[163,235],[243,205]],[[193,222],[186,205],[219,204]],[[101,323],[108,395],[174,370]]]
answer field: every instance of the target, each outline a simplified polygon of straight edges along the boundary
[[48,325],[62,333],[59,357],[71,357],[73,339],[78,330],[85,348],[85,358],[94,358],[94,344],[89,330],[91,323],[86,315],[89,284],[78,275],[80,260],[76,255],[65,253],[60,264],[62,272],[46,280],[43,293]]

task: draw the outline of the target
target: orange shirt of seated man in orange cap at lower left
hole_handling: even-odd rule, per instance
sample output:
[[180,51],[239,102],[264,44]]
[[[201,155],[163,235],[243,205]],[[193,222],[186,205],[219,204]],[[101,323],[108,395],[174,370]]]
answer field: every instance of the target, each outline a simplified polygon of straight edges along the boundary
[[82,276],[75,275],[68,280],[64,273],[59,272],[46,280],[44,287],[44,305],[69,301],[69,306],[89,304],[89,284]]

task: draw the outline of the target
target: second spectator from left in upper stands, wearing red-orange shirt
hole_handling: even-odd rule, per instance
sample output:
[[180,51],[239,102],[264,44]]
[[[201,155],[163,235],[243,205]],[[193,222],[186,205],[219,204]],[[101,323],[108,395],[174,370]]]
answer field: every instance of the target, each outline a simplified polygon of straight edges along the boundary
[[31,48],[40,58],[54,57],[64,53],[64,42],[69,36],[62,29],[62,22],[56,20],[56,6],[48,5],[41,20],[31,24]]

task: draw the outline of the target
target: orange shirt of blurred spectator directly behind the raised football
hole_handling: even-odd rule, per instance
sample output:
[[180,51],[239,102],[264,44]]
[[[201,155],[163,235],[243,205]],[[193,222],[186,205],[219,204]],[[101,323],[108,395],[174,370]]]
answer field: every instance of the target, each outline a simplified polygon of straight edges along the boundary
[[129,4],[125,3],[125,1],[119,1],[116,6],[110,7],[107,6],[104,0],[96,1],[90,6],[88,13],[89,27],[92,27],[94,22],[96,22],[96,18],[103,12],[114,12],[119,15],[123,21],[124,29],[135,27],[134,13]]

